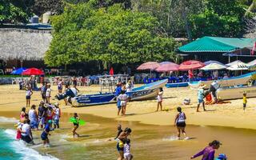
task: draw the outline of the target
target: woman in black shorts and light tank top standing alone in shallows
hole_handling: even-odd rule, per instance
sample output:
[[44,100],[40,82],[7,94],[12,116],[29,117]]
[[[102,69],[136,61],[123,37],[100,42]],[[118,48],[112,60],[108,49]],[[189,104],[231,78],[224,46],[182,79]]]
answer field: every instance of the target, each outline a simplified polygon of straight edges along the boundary
[[188,139],[186,137],[186,114],[182,112],[182,108],[180,106],[177,107],[178,114],[176,115],[175,121],[174,121],[174,126],[177,127],[178,130],[178,139],[181,138],[181,132],[184,135],[184,139]]

